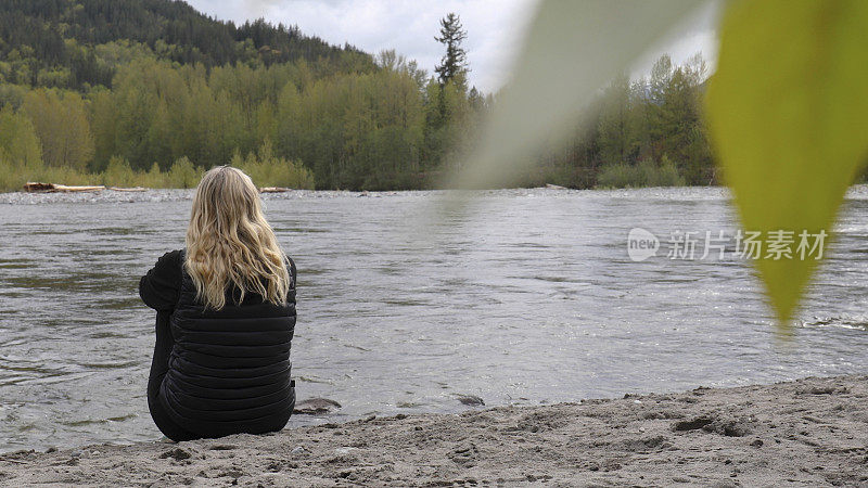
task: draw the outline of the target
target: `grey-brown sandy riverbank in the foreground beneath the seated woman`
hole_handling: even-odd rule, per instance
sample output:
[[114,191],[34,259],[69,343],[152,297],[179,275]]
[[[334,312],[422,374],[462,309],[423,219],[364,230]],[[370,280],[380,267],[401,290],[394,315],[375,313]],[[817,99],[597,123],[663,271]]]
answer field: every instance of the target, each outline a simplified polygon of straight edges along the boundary
[[868,485],[868,376],[0,457],[0,485]]

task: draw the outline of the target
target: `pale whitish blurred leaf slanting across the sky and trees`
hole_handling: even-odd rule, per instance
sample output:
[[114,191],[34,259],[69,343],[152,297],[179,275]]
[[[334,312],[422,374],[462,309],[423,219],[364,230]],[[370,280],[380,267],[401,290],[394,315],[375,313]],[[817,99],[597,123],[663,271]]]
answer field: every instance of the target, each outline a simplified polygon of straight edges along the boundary
[[544,0],[477,151],[447,188],[502,187],[534,151],[575,131],[598,90],[627,70],[697,0]]

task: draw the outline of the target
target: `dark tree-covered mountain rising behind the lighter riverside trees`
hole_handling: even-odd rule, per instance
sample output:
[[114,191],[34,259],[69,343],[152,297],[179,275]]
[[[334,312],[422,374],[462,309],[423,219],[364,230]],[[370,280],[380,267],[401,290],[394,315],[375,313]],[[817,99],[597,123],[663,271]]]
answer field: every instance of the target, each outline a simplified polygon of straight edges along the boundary
[[0,81],[31,87],[111,87],[129,51],[206,67],[336,60],[352,47],[264,20],[235,25],[177,0],[2,0]]

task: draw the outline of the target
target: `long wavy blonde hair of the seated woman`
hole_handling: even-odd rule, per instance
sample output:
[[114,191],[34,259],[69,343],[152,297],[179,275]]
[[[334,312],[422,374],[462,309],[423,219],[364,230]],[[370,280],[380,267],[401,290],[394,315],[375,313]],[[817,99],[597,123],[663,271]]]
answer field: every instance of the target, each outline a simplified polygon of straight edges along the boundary
[[286,304],[291,287],[285,255],[263,214],[259,191],[238,168],[217,166],[202,177],[187,228],[184,269],[206,308],[226,305],[230,284],[265,301]]

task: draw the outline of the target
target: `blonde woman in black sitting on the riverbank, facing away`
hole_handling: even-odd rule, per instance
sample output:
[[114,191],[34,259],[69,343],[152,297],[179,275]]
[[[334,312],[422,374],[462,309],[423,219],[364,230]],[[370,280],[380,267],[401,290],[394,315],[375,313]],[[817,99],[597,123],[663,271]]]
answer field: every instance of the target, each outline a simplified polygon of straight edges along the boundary
[[186,244],[139,282],[157,311],[154,423],[175,441],[280,431],[295,406],[295,264],[250,177],[229,166],[205,174]]

